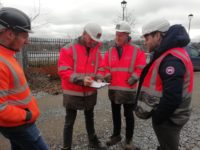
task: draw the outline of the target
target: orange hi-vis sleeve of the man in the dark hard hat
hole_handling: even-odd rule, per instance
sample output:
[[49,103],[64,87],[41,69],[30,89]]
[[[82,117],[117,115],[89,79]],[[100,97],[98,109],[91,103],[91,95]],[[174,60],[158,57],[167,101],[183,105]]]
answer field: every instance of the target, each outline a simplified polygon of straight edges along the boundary
[[0,63],[0,124],[10,124],[25,122],[26,111],[23,108],[9,105],[7,99],[7,89],[10,88],[11,75],[10,70],[4,64]]

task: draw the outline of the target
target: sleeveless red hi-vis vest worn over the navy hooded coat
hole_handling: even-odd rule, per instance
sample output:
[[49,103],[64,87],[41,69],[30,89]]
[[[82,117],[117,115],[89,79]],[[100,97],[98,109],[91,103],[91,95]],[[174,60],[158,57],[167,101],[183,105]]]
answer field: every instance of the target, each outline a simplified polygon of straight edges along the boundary
[[162,60],[169,54],[179,58],[186,68],[182,93],[183,100],[181,105],[170,117],[174,123],[183,124],[187,122],[190,116],[190,102],[193,89],[193,65],[186,50],[183,48],[173,48],[168,50],[163,53],[155,62],[153,62],[143,81],[138,107],[140,107],[143,112],[151,113],[152,109],[155,109],[154,107],[156,107],[156,105],[160,102],[160,98],[162,97],[163,93],[163,85],[158,71]]

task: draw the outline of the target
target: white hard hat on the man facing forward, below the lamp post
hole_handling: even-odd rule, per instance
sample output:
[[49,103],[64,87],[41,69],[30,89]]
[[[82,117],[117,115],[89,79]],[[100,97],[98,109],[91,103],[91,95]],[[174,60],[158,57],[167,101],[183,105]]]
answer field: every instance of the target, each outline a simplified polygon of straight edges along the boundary
[[117,32],[131,33],[131,26],[126,21],[120,21],[116,24],[115,30]]

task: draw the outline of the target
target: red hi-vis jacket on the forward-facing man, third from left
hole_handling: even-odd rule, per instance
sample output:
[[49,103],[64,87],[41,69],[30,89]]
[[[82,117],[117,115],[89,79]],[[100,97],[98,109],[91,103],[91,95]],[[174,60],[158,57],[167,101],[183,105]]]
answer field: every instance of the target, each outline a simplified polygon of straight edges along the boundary
[[137,83],[130,86],[130,77],[138,80],[142,69],[146,65],[145,53],[129,43],[124,45],[122,56],[119,59],[117,49],[112,47],[104,57],[105,76],[111,75],[109,89],[122,91],[136,91]]

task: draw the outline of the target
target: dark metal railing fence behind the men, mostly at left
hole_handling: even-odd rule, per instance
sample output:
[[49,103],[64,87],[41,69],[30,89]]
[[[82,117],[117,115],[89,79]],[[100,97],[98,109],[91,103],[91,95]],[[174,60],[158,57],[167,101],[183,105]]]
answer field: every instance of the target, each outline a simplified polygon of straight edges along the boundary
[[[22,52],[17,54],[19,62],[24,68],[27,67],[42,67],[56,65],[59,50],[64,45],[70,43],[72,40],[67,39],[49,39],[49,38],[30,38]],[[101,53],[104,55],[114,41],[105,41],[101,46]],[[143,48],[141,41],[134,42],[133,44]]]

